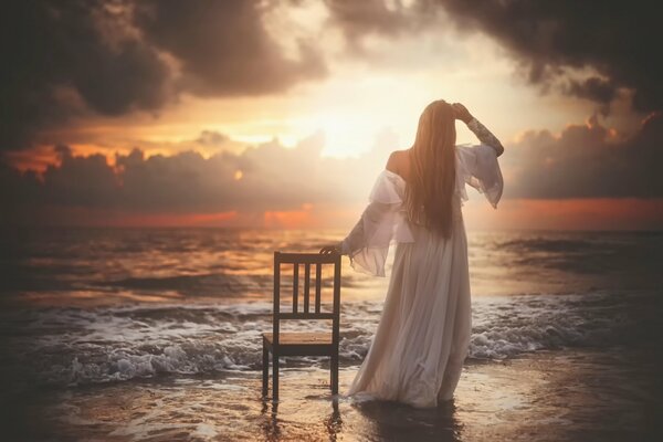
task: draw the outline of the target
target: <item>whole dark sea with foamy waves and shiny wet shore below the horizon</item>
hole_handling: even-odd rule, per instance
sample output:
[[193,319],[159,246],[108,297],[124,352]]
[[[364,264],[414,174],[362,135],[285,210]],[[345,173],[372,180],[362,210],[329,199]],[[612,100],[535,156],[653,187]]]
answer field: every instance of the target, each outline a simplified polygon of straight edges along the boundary
[[[280,403],[263,400],[261,333],[272,326],[274,252],[316,253],[345,233],[6,228],[2,434],[120,441],[659,434],[663,231],[470,231],[470,354],[454,403],[436,411],[344,394],[380,319],[394,246],[387,277],[356,272],[344,256],[340,394],[328,391],[326,358],[288,357]],[[290,327],[327,326],[318,323]]]

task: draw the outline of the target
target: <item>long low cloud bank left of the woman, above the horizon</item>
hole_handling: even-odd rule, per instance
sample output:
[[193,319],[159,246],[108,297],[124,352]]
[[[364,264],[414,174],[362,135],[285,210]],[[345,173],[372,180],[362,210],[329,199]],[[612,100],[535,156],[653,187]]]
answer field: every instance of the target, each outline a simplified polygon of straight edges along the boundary
[[69,147],[56,146],[59,164],[41,175],[0,168],[0,185],[12,189],[0,196],[0,203],[7,209],[6,221],[14,212],[30,221],[30,213],[41,213],[42,208],[262,214],[366,201],[367,185],[383,168],[393,146],[376,148],[361,158],[338,159],[320,155],[324,144],[324,136],[316,134],[294,148],[273,140],[209,158],[191,150],[146,157],[134,149],[114,159],[98,154],[76,156]]

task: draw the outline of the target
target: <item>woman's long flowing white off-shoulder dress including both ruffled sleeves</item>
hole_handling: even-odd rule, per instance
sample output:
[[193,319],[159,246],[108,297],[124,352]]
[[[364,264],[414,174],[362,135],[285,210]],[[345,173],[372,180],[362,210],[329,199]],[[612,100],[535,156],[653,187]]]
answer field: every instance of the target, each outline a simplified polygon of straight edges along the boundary
[[[495,145],[496,138],[478,122],[469,127],[482,143]],[[348,396],[368,394],[420,408],[452,398],[472,332],[461,206],[467,200],[465,185],[470,185],[497,207],[503,179],[497,149],[491,145],[456,146],[449,239],[407,219],[406,181],[399,175],[385,169],[378,176],[361,219],[340,243],[352,269],[385,276],[389,245],[396,242],[382,316]]]

